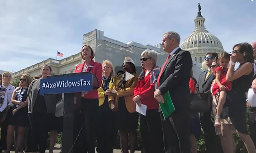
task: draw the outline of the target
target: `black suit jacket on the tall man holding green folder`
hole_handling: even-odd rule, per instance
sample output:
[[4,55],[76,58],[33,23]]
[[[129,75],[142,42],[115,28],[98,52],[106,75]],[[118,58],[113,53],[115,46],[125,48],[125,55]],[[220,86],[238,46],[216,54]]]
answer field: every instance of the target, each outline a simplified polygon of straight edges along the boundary
[[190,108],[189,79],[192,59],[188,51],[178,49],[168,59],[160,76],[158,89],[162,94],[170,93],[176,110]]

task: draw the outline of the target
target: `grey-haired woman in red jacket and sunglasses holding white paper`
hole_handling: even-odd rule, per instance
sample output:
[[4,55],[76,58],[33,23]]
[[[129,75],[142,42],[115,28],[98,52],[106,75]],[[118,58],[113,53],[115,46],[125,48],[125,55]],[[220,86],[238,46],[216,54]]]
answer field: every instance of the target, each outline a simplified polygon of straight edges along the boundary
[[[140,115],[140,134],[143,150],[146,153],[163,153],[163,137],[158,102],[154,98],[155,83],[160,72],[156,66],[157,53],[146,49],[141,53],[143,70],[139,75],[137,86],[134,89],[133,101],[138,105],[147,106],[146,116]],[[137,107],[137,106],[136,106]]]

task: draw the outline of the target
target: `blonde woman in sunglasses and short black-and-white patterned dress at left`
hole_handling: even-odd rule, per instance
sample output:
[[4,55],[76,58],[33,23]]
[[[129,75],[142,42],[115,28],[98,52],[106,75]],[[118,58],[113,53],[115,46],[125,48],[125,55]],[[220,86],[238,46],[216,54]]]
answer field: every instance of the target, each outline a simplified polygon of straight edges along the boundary
[[14,104],[12,111],[13,114],[9,116],[8,130],[7,130],[7,149],[6,153],[9,153],[14,138],[14,131],[17,128],[17,144],[15,153],[22,151],[23,139],[26,128],[29,126],[28,120],[28,86],[31,83],[31,78],[28,74],[23,74],[20,78],[19,87],[17,87],[12,94],[12,104]]

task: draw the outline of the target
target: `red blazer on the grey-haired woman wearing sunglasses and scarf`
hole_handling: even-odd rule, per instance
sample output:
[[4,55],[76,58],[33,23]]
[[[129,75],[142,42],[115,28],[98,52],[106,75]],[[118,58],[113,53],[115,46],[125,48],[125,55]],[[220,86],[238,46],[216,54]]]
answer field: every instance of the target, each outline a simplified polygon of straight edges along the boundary
[[[144,72],[145,73],[145,72]],[[140,95],[141,103],[147,105],[147,110],[158,109],[158,102],[154,98],[155,84],[150,84],[150,73],[143,80],[138,80],[134,88],[133,97]]]

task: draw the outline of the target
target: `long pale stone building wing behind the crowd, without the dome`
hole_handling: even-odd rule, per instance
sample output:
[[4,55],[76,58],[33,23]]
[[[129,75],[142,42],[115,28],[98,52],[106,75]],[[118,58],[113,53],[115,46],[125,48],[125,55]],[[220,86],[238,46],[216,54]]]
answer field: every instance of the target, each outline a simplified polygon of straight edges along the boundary
[[[140,73],[140,54],[145,49],[152,49],[158,53],[157,65],[161,66],[167,57],[167,53],[162,51],[161,45],[142,45],[133,41],[123,43],[104,36],[104,32],[97,29],[83,35],[83,45],[84,44],[90,45],[95,51],[95,61],[102,63],[103,60],[108,59],[112,61],[114,67],[118,67],[116,70],[121,69],[124,57],[129,56],[134,60],[135,66],[138,66],[137,73]],[[13,77],[18,77],[23,73],[29,73],[31,76],[40,75],[40,69],[45,64],[51,65],[52,74],[72,73],[74,72],[75,65],[81,62],[80,53],[62,60],[49,58],[13,73]],[[193,71],[197,78],[200,73],[200,65],[193,62]]]

